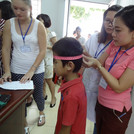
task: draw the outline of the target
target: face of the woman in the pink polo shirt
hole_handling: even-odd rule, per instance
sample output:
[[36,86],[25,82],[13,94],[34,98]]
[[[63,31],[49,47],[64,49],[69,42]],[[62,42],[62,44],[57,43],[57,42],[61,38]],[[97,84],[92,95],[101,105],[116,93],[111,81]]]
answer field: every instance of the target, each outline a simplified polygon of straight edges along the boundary
[[113,27],[112,36],[116,46],[129,48],[134,45],[134,31],[130,31],[120,17],[114,19]]

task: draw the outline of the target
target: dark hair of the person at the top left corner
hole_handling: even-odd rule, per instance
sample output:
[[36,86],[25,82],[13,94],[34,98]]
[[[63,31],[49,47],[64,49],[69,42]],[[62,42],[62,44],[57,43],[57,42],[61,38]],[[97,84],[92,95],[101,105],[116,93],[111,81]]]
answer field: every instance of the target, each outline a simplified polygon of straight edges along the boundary
[[15,16],[10,1],[1,1],[0,9],[1,9],[1,17],[4,20],[8,20]]

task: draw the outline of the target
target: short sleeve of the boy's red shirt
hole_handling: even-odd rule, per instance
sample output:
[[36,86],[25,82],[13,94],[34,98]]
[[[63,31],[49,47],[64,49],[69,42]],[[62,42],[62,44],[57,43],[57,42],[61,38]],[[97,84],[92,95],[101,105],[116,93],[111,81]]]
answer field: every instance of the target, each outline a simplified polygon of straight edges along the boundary
[[71,126],[77,116],[78,110],[78,101],[73,97],[68,97],[67,100],[64,101],[63,105],[63,120],[62,124],[65,126]]

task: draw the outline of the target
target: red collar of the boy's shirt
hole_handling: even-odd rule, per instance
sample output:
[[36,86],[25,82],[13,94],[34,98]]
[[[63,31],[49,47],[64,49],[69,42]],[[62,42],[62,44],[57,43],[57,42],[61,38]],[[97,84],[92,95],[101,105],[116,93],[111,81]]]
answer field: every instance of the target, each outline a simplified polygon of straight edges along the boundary
[[74,79],[74,80],[71,80],[68,82],[65,82],[65,80],[63,80],[63,82],[58,90],[58,93],[64,91],[66,88],[69,88],[77,83],[80,83],[82,81],[82,75],[81,74],[78,74],[78,75],[79,75],[79,78],[77,78],[77,79]]

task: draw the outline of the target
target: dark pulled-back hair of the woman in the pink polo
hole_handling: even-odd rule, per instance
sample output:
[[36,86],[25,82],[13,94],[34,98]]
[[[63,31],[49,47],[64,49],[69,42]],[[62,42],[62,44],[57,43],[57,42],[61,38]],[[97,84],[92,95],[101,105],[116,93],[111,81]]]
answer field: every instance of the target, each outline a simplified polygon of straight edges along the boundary
[[122,8],[114,17],[120,17],[130,31],[134,30],[134,5]]

